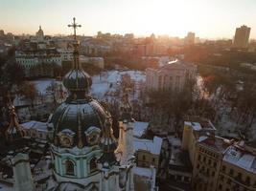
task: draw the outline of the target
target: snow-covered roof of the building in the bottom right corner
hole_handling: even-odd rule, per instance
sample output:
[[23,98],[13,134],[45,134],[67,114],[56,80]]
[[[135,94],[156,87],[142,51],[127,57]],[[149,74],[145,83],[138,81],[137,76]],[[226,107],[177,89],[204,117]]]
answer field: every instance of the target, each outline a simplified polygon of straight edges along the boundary
[[256,156],[244,153],[235,146],[230,146],[223,160],[256,174]]

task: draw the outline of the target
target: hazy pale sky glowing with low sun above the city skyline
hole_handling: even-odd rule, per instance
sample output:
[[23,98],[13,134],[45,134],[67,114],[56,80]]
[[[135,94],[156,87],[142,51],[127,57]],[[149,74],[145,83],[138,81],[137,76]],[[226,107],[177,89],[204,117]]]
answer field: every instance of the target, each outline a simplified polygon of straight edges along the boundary
[[72,32],[67,25],[77,17],[78,33],[136,35],[169,34],[183,37],[232,38],[236,27],[251,27],[256,38],[256,0],[0,0],[0,29],[13,33]]

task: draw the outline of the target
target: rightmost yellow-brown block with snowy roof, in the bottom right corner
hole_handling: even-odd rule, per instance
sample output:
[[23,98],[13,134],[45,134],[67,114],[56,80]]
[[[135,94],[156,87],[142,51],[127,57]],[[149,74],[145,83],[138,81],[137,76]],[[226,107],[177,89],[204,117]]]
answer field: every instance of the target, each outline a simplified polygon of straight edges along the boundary
[[223,191],[256,190],[256,149],[244,141],[230,146],[222,159],[218,189]]

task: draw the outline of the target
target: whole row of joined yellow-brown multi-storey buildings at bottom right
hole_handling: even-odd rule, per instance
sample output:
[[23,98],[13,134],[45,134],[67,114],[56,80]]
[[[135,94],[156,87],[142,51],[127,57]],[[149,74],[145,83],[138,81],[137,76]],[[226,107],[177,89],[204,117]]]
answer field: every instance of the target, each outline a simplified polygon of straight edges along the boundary
[[193,190],[256,191],[256,149],[217,137],[210,121],[198,121],[185,122],[182,139],[193,166]]

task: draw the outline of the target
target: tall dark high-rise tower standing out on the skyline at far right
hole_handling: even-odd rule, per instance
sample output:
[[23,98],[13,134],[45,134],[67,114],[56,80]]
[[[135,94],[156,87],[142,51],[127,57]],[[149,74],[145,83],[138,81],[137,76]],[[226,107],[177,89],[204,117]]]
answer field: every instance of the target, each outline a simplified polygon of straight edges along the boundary
[[250,35],[250,28],[245,25],[236,29],[235,38],[234,38],[234,47],[239,49],[245,49],[248,47]]

